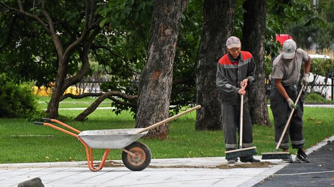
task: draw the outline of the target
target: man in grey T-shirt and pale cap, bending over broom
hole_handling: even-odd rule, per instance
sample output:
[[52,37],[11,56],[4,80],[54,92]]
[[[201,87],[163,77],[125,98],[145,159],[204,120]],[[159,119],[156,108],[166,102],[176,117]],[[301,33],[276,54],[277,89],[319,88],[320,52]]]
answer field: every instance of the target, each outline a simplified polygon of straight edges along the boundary
[[[273,61],[272,78],[274,79],[274,86],[271,88],[269,97],[270,109],[275,123],[276,145],[282,136],[292,108],[295,108],[289,128],[280,144],[280,148],[283,149],[284,152],[288,152],[290,135],[292,148],[298,149],[295,162],[309,162],[307,155],[303,151],[305,145],[303,134],[303,105],[305,93],[303,90],[298,101],[298,107],[294,105],[302,87],[299,82],[303,63],[304,76],[302,82],[306,85],[311,69],[311,58],[304,50],[297,49],[296,43],[292,39],[284,41],[283,52]],[[292,162],[293,160],[290,158],[285,161]]]

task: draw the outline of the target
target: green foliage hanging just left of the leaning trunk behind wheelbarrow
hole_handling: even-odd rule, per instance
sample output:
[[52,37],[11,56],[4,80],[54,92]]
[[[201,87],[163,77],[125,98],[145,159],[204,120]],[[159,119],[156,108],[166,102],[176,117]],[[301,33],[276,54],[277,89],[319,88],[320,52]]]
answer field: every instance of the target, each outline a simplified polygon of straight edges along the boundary
[[[152,0],[116,0],[97,10],[104,17],[100,22],[104,35],[96,38],[100,45],[96,46],[93,54],[110,78],[109,82],[101,85],[102,91],[137,94],[139,75],[146,62],[153,4]],[[136,103],[136,100],[125,102]],[[136,112],[135,108],[115,102],[112,107],[115,107],[113,111],[116,114],[124,110]]]

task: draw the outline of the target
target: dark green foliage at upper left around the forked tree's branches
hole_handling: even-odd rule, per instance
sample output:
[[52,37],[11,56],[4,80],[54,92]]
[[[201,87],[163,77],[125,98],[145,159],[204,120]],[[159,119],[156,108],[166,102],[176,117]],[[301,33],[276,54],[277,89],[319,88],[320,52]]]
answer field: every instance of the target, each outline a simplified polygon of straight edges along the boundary
[[[7,6],[18,9],[16,1],[0,4],[0,64],[5,72],[16,82],[36,81],[36,86],[48,85],[54,81],[58,71],[58,55],[49,34],[35,20],[6,9]],[[40,2],[34,8],[32,2],[23,1],[24,11],[47,20],[41,13]],[[63,49],[80,36],[83,28],[85,3],[78,1],[45,2],[48,12],[57,29]],[[77,56],[76,56],[77,55]],[[67,67],[69,73],[78,68],[78,53],[70,57]]]

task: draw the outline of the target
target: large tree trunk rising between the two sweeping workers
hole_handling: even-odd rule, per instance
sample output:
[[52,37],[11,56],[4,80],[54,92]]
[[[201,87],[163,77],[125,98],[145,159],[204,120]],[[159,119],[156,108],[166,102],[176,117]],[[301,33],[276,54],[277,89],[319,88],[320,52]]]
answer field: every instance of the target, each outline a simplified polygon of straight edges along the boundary
[[252,122],[270,126],[265,88],[266,1],[247,0],[244,13],[242,48],[252,53],[256,63],[256,82],[249,90],[249,110]]

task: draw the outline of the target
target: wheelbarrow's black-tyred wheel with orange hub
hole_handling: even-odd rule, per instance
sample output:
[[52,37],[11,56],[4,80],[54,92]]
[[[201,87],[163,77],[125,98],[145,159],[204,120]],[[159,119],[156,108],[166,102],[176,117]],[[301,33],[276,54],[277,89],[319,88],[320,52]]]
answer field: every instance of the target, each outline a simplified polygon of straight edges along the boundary
[[151,162],[151,150],[144,143],[135,141],[129,144],[126,148],[127,151],[136,154],[135,157],[122,152],[122,161],[126,168],[132,171],[144,170]]

